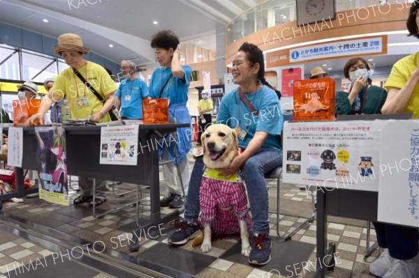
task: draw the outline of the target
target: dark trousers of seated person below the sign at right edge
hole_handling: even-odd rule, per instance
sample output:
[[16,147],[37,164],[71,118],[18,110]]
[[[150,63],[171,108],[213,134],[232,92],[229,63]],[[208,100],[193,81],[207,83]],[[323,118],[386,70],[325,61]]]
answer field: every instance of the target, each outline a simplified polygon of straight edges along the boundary
[[418,228],[372,222],[376,229],[378,246],[388,248],[392,258],[409,260],[418,254]]

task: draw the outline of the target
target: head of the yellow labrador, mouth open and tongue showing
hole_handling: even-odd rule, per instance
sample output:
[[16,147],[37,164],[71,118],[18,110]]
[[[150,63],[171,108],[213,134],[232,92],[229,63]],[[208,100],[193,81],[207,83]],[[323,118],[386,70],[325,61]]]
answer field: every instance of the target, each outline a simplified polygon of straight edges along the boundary
[[201,136],[204,163],[208,168],[228,167],[238,154],[237,134],[227,125],[210,125]]

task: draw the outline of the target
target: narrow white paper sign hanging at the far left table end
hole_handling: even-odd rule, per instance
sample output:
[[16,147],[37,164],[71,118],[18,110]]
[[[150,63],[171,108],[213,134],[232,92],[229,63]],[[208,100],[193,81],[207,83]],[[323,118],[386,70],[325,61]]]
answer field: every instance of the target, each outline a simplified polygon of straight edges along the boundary
[[23,128],[9,128],[7,146],[8,166],[22,167]]

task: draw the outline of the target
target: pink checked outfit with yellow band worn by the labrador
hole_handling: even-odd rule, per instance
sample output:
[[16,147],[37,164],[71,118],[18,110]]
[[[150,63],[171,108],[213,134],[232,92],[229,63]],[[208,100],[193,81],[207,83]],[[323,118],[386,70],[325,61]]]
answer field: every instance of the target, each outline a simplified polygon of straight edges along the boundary
[[240,233],[239,220],[247,229],[253,226],[247,208],[246,188],[242,178],[235,173],[230,178],[219,176],[219,171],[206,169],[200,187],[200,217],[204,226],[211,224],[212,233],[228,235]]

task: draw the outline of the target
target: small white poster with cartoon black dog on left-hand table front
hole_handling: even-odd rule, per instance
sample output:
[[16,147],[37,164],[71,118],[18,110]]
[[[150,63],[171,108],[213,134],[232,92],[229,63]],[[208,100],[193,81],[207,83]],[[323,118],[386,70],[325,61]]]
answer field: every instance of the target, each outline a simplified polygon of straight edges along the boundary
[[138,125],[101,128],[101,164],[137,165]]

